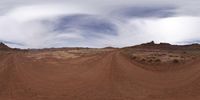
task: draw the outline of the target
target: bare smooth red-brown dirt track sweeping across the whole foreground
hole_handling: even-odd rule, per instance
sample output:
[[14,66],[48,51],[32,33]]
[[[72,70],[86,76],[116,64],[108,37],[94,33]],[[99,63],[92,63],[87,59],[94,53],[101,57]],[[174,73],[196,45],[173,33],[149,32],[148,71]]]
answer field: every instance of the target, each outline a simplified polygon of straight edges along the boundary
[[153,72],[119,51],[55,62],[9,54],[0,61],[0,100],[198,100],[199,66]]

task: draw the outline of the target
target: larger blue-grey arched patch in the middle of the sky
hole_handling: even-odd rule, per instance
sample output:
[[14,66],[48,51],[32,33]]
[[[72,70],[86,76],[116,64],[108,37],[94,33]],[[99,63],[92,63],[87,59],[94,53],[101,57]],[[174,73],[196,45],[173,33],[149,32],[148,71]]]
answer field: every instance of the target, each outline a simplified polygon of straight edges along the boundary
[[117,35],[117,27],[112,21],[93,15],[64,16],[54,24],[54,31],[73,32],[82,31],[88,37],[102,34]]

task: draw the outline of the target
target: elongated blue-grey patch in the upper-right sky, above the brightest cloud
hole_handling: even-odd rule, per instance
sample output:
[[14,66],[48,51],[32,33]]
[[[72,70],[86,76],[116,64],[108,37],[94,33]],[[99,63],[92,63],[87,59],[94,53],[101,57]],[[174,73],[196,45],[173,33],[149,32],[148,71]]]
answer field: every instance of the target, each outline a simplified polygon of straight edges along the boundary
[[113,13],[117,16],[125,18],[133,17],[171,17],[175,15],[175,7],[171,6],[133,6],[133,7],[124,7],[118,10],[115,10]]

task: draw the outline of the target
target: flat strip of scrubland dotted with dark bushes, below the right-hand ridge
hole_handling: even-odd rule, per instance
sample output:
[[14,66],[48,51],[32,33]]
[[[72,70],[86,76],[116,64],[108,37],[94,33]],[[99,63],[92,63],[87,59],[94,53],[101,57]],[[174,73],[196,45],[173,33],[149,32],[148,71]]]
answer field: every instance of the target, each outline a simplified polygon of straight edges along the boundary
[[162,63],[184,63],[195,58],[191,53],[167,50],[126,50],[125,53],[140,63],[162,64]]

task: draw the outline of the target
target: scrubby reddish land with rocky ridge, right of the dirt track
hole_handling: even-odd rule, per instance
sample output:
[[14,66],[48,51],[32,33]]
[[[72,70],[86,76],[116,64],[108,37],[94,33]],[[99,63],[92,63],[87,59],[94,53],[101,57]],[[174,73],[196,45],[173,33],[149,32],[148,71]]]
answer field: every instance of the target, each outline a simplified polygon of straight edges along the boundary
[[[200,45],[156,44],[153,41],[123,48],[123,53],[141,68],[151,71],[171,71],[183,68],[200,57]],[[176,66],[176,67],[174,67]]]

